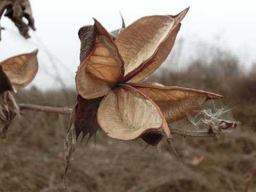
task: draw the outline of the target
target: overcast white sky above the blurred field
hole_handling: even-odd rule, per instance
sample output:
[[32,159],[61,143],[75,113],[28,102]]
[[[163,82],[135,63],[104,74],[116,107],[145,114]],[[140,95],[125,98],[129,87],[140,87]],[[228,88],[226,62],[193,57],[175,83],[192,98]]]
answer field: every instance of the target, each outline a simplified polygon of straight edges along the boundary
[[119,11],[127,26],[146,15],[177,14],[190,6],[177,36],[189,47],[186,54],[193,55],[193,47],[205,42],[230,50],[246,66],[256,61],[255,1],[30,0],[30,4],[37,28],[29,31],[30,39],[23,39],[14,24],[2,17],[1,26],[6,29],[2,30],[0,61],[38,48],[39,71],[31,84],[39,89],[64,84],[75,87],[80,49],[78,29],[93,25],[92,18],[108,31],[120,28]]

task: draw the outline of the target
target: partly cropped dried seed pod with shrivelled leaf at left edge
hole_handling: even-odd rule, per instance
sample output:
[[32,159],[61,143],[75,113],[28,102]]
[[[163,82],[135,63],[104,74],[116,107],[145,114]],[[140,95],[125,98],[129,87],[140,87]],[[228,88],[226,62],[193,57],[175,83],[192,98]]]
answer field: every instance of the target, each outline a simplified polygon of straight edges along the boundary
[[0,137],[6,138],[7,129],[15,117],[20,117],[20,108],[10,91],[14,86],[26,86],[35,77],[38,69],[38,50],[20,54],[0,62]]

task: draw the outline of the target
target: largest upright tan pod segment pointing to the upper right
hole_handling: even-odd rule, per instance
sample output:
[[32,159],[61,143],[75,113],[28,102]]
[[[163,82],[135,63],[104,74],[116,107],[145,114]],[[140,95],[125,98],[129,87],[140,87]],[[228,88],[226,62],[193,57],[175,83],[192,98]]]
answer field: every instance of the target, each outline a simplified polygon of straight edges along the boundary
[[163,63],[172,49],[180,21],[187,11],[188,9],[176,16],[143,17],[122,31],[115,41],[125,62],[125,77],[122,82],[131,78],[130,82],[138,82]]

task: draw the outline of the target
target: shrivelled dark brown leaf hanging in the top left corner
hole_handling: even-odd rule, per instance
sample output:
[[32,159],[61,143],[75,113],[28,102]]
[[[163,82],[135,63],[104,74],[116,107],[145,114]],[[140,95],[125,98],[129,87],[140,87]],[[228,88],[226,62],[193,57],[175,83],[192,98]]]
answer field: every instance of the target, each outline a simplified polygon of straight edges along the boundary
[[[6,12],[4,16],[10,18],[15,26],[18,27],[20,34],[29,38],[28,30],[29,27],[33,30],[34,26],[34,18],[32,17],[31,7],[28,0],[4,0],[0,1],[0,19],[2,14]],[[23,21],[23,17],[28,20],[28,23]],[[0,41],[1,41],[1,29],[0,29]]]

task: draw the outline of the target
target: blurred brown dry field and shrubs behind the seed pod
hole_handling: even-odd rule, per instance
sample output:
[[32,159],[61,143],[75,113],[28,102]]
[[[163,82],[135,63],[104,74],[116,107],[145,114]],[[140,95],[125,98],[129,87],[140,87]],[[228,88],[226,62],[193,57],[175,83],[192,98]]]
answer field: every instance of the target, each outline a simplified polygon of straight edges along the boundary
[[[181,46],[181,45],[180,45]],[[179,47],[179,46],[178,46]],[[243,61],[229,51],[208,47],[181,67],[179,49],[146,81],[183,86],[224,95],[206,106],[232,109],[223,118],[238,121],[231,133],[194,139],[173,135],[179,157],[161,142],[146,147],[142,140],[118,141],[97,133],[86,146],[78,141],[67,174],[68,191],[244,191],[256,166],[256,63],[244,70]],[[181,49],[181,47],[180,47]],[[178,64],[179,63],[179,64]],[[18,90],[18,103],[73,108],[75,90]],[[65,169],[63,143],[69,116],[22,111],[6,140],[0,140],[0,191],[60,191]],[[185,129],[188,120],[171,125]],[[190,126],[189,129],[196,129]],[[79,140],[80,138],[78,138]],[[62,189],[65,191],[65,189]],[[249,191],[256,191],[256,175]]]

